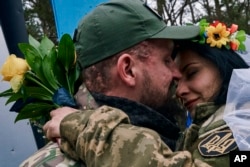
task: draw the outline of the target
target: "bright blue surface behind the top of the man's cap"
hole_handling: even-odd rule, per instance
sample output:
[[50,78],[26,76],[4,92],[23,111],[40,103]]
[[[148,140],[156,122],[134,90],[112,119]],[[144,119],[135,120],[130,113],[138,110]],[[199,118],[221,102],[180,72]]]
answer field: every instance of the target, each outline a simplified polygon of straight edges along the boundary
[[60,39],[64,33],[73,37],[81,18],[105,1],[107,0],[51,0],[58,38]]

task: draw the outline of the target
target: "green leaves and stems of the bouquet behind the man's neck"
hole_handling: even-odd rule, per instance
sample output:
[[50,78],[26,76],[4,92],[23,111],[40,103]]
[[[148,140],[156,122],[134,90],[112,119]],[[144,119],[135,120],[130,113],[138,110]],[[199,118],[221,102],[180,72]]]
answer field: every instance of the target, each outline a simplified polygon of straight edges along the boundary
[[58,89],[65,88],[71,97],[76,93],[74,88],[80,71],[75,63],[73,41],[69,34],[64,34],[57,46],[46,36],[41,42],[29,36],[29,43],[18,46],[30,70],[25,73],[18,92],[8,89],[0,93],[0,97],[8,97],[6,104],[22,100],[23,106],[15,122],[22,119],[46,121],[49,112],[59,106],[53,101]]

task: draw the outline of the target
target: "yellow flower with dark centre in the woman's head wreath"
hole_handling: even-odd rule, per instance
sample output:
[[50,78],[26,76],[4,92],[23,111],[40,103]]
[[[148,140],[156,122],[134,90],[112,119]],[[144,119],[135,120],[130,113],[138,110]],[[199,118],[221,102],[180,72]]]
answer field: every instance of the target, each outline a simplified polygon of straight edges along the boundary
[[221,23],[216,26],[210,25],[206,28],[207,31],[207,43],[210,44],[211,47],[221,48],[222,45],[226,45],[229,42],[229,34],[225,25]]

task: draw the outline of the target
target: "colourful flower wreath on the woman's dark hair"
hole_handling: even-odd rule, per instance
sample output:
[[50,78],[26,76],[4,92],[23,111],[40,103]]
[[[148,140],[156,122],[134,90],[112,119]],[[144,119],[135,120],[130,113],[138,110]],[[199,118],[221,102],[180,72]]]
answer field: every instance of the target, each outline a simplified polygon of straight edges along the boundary
[[221,48],[225,46],[234,51],[246,50],[244,45],[246,33],[244,30],[238,30],[238,25],[232,24],[229,28],[220,21],[208,23],[205,19],[202,19],[199,26],[201,29],[200,38],[195,41],[201,44],[209,44],[211,47]]

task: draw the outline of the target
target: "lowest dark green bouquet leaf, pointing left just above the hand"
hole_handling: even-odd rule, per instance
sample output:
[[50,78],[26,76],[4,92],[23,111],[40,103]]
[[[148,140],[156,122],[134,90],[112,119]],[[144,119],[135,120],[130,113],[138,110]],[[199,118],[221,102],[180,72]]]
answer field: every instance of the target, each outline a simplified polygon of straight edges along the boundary
[[23,119],[36,119],[49,115],[51,110],[55,109],[55,106],[48,103],[30,103],[25,105],[20,113],[18,113],[15,123]]

